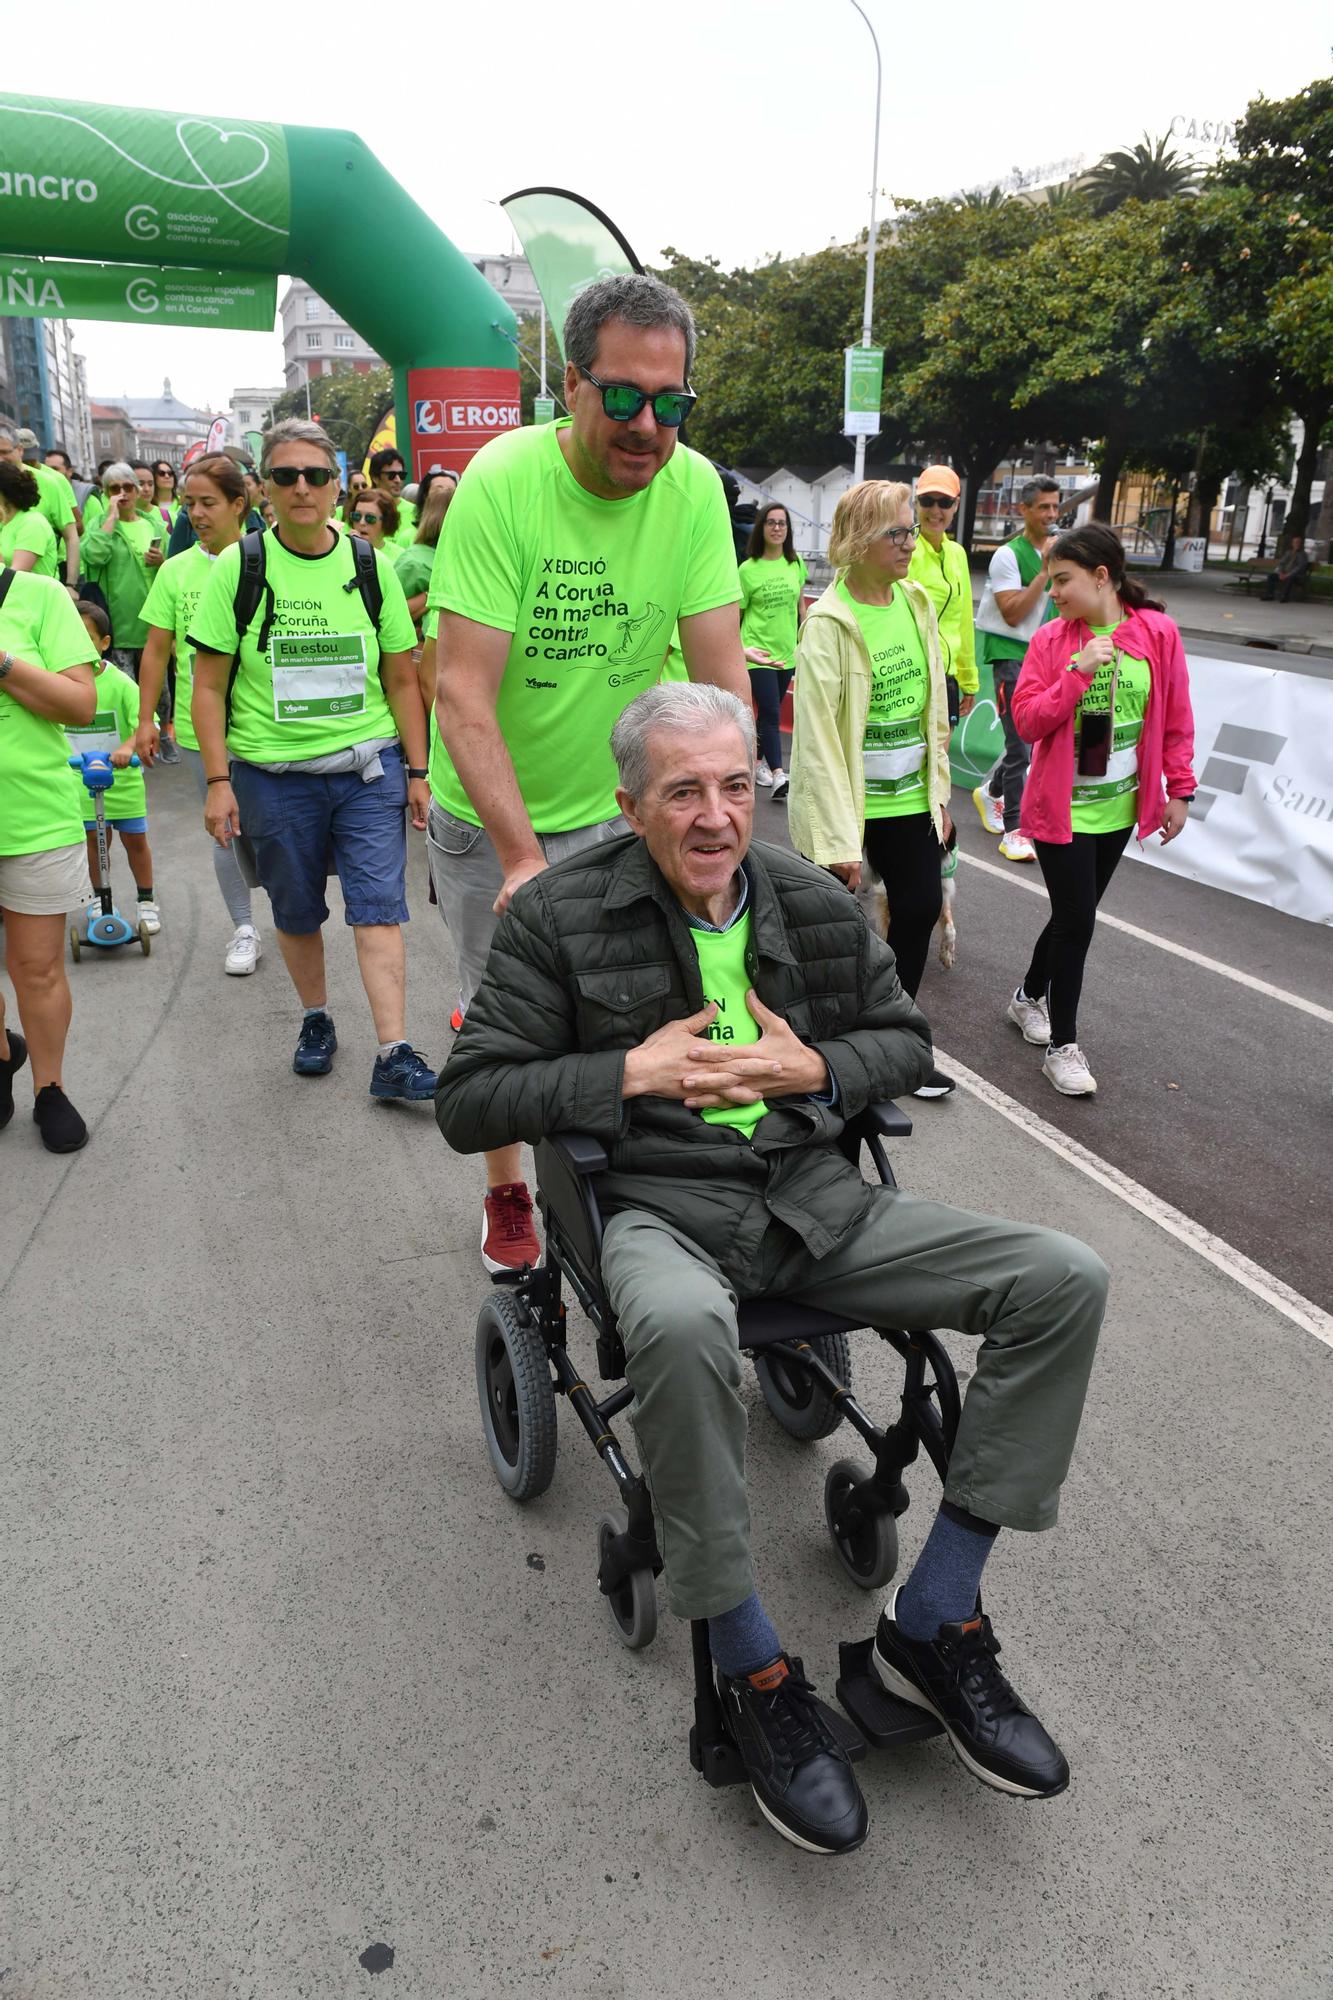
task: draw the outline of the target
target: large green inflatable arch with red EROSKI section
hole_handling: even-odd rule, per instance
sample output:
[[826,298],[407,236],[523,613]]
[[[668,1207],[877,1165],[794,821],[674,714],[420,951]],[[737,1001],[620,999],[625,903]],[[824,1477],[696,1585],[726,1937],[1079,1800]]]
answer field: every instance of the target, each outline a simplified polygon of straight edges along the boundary
[[410,478],[518,424],[512,312],[356,134],[0,92],[0,314],[272,328],[278,272],[390,362]]

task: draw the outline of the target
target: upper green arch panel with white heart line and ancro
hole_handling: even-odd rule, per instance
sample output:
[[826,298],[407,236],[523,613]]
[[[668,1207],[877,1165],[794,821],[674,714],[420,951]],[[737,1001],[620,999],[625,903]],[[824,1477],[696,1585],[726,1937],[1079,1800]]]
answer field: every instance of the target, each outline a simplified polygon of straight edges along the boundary
[[0,92],[0,250],[280,272],[286,132]]

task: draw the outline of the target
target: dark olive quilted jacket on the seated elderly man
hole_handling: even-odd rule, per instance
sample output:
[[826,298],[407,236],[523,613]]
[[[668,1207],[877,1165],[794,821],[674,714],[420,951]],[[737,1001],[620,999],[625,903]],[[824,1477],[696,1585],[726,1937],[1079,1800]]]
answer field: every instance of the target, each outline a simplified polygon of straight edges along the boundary
[[889,946],[823,868],[755,842],[751,984],[813,1044],[837,1106],[781,1098],[753,1142],[669,1098],[620,1096],[624,1052],[705,1004],[689,924],[636,836],[534,876],[496,928],[486,978],[434,1110],[456,1152],[590,1132],[608,1152],[604,1214],[642,1208],[729,1272],[773,1218],[825,1256],[865,1214],[867,1184],[833,1144],[843,1118],[931,1070],[931,1032]]

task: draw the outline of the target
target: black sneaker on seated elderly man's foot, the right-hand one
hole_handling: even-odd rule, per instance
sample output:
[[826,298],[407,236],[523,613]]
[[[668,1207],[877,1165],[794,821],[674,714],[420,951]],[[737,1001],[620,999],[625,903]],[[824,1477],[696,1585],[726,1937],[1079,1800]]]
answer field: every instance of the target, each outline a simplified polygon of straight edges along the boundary
[[945,1624],[937,1638],[907,1638],[893,1622],[899,1594],[881,1612],[871,1654],[889,1694],[929,1708],[949,1732],[959,1760],[983,1784],[1013,1798],[1055,1798],[1069,1784],[1069,1764],[1045,1728],[1013,1692],[995,1656],[989,1618]]

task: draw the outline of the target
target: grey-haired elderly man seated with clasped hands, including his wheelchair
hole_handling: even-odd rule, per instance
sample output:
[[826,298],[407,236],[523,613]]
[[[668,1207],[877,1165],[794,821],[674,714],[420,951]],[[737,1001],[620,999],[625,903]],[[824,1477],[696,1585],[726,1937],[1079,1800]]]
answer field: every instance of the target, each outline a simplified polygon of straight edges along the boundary
[[[711,686],[650,688],[610,748],[632,832],[516,892],[436,1094],[456,1150],[538,1146],[546,1260],[518,1280],[520,1298],[496,1294],[498,1316],[482,1314],[502,1338],[478,1336],[492,1462],[518,1498],[538,1490],[554,1464],[552,1386],[568,1396],[630,1502],[628,1522],[602,1522],[600,1584],[620,1594],[616,1616],[632,1624],[634,1588],[646,1578],[650,1592],[664,1568],[671,1610],[695,1622],[697,1766],[713,1782],[749,1782],[787,1840],[833,1854],[867,1834],[853,1772],[865,1744],[815,1698],[759,1594],[743,1346],[775,1408],[785,1394],[793,1416],[847,1414],[871,1442],[873,1476],[845,1460],[827,1490],[835,1546],[861,1582],[893,1574],[895,1552],[879,1560],[885,1524],[891,1534],[907,1506],[901,1470],[921,1438],[943,1502],[863,1648],[863,1706],[843,1682],[839,1694],[877,1742],[895,1728],[875,1734],[867,1688],[915,1718],[899,1734],[943,1726],[985,1784],[1053,1798],[1069,1764],[997,1664],[981,1572],[999,1528],[1055,1526],[1107,1270],[1069,1236],[893,1184],[875,1136],[893,1126],[893,1106],[875,1108],[929,1074],[931,1034],[855,898],[751,840],[755,728],[743,704]],[[867,1132],[881,1186],[859,1168]],[[586,1214],[574,1214],[580,1188],[594,1188]],[[546,1266],[554,1292],[542,1292]],[[560,1266],[604,1336],[602,1372],[622,1356],[628,1386],[602,1404],[564,1354]],[[777,1346],[765,1348],[765,1314],[779,1316]],[[813,1338],[781,1340],[785,1324]],[[522,1326],[528,1342],[542,1330],[536,1368]],[[981,1340],[961,1412],[937,1326]],[[861,1412],[837,1366],[847,1342],[821,1328],[875,1328],[899,1348],[899,1424],[877,1430]],[[811,1380],[793,1386],[803,1366]],[[610,1432],[626,1406],[646,1490]],[[506,1478],[518,1424],[524,1450],[538,1434],[546,1464]]]

